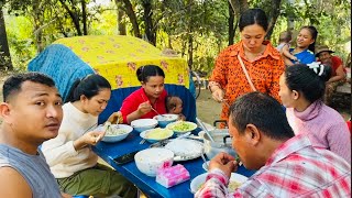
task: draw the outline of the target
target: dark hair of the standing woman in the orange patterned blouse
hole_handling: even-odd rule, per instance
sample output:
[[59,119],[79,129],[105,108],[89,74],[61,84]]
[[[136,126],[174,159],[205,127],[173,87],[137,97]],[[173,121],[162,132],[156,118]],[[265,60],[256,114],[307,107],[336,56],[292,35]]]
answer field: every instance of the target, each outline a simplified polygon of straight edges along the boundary
[[265,32],[267,31],[267,18],[262,9],[249,9],[241,14],[239,22],[240,32],[242,32],[245,26],[252,24],[257,24],[262,26]]

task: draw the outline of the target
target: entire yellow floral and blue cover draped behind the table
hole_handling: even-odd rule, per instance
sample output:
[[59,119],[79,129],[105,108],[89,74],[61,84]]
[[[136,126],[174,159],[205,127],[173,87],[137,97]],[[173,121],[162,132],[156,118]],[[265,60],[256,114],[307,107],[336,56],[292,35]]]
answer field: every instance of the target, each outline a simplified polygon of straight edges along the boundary
[[63,98],[77,78],[98,73],[109,80],[112,97],[99,122],[118,111],[122,100],[141,84],[135,72],[144,65],[157,65],[165,72],[168,94],[184,100],[187,120],[196,117],[196,101],[189,91],[187,62],[178,56],[165,56],[155,46],[132,36],[89,35],[65,37],[46,47],[29,64],[29,70],[42,72],[55,80]]

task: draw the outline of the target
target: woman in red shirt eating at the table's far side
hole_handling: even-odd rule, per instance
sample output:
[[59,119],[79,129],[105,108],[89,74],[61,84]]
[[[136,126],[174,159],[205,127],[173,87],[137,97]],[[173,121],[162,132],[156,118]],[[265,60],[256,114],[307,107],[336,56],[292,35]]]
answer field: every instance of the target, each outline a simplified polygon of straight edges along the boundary
[[165,98],[167,96],[164,89],[164,70],[156,65],[145,65],[136,70],[136,77],[142,87],[129,97],[121,106],[123,123],[130,124],[136,119],[153,118],[166,113]]

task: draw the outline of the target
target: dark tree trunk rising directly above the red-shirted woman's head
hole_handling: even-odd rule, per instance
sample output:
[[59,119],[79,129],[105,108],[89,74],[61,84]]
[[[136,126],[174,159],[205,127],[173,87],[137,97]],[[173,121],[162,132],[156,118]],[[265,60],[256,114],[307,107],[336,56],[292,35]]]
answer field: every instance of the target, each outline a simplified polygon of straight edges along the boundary
[[152,11],[152,3],[150,0],[143,1],[143,20],[145,24],[145,34],[150,43],[152,43],[154,46],[156,45],[156,31],[154,30],[153,25],[153,11]]

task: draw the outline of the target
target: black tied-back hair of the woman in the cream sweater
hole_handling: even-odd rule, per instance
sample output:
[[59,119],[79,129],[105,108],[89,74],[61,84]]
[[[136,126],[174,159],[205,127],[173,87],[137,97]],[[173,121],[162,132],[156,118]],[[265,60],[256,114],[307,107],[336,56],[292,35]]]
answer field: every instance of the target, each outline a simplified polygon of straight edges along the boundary
[[82,79],[77,79],[72,86],[65,102],[74,102],[86,96],[88,99],[97,96],[101,89],[111,89],[109,81],[97,74],[88,75]]

